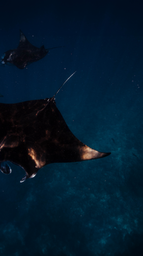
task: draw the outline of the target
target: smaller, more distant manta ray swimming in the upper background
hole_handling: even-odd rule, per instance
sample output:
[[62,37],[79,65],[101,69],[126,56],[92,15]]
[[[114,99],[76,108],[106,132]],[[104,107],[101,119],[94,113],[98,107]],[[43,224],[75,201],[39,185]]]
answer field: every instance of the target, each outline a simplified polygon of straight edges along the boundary
[[[50,49],[54,48],[59,47]],[[2,55],[1,63],[3,65],[15,65],[18,69],[24,69],[26,65],[44,58],[50,49],[45,49],[44,46],[40,48],[33,46],[20,30],[19,46],[17,49],[5,52]]]

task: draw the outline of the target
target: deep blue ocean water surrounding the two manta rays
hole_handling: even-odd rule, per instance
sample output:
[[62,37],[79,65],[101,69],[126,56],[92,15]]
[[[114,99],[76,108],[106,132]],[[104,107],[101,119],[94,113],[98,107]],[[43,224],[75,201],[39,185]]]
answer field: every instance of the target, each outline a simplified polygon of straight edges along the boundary
[[0,173],[0,255],[143,255],[142,1],[1,2],[1,55],[19,29],[64,46],[24,70],[1,66],[3,103],[52,97],[72,133],[111,155]]

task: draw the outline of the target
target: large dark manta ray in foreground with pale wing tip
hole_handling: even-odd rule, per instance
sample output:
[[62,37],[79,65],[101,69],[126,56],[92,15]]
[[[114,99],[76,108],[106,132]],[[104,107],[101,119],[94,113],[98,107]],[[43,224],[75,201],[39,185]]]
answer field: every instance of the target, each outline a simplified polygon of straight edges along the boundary
[[20,181],[23,182],[50,163],[85,161],[111,154],[93,150],[72,134],[56,108],[55,95],[14,104],[0,103],[0,169],[4,174],[11,173],[7,161],[25,170]]

